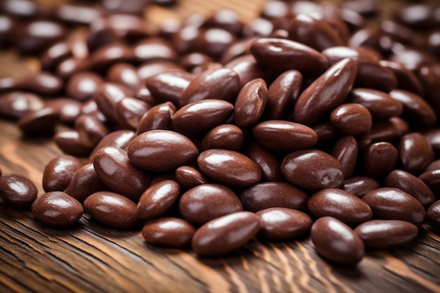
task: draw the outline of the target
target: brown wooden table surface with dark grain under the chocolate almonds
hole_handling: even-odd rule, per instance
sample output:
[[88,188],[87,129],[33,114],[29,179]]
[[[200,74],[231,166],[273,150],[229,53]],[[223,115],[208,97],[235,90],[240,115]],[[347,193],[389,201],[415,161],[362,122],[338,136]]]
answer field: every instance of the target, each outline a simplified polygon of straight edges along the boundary
[[[188,13],[196,7],[183,9],[189,2],[209,3],[181,1],[172,13]],[[243,18],[257,13],[237,5]],[[1,53],[0,74],[26,70],[15,64],[15,55]],[[3,174],[27,176],[39,194],[44,166],[61,153],[50,138],[23,138],[13,122],[0,120]],[[440,230],[423,226],[410,245],[368,252],[344,268],[321,259],[308,237],[252,240],[228,256],[205,258],[145,245],[140,231],[103,228],[87,215],[74,228],[48,228],[30,211],[0,203],[0,292],[440,292]]]

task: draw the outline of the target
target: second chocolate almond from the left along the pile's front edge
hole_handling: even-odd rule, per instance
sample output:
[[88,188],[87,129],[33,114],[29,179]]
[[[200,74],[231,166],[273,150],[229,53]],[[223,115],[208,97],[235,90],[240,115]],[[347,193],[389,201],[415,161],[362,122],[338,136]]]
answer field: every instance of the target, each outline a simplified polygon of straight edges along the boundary
[[75,225],[83,213],[81,202],[62,191],[44,193],[32,204],[35,219],[56,228]]

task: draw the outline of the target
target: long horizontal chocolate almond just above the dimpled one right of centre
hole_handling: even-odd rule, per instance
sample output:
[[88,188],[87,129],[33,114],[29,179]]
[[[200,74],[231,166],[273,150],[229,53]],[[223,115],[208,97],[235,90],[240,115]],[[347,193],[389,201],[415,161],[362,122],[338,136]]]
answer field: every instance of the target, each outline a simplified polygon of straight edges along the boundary
[[309,126],[284,120],[261,122],[252,133],[261,145],[279,152],[312,148],[318,142],[318,135]]

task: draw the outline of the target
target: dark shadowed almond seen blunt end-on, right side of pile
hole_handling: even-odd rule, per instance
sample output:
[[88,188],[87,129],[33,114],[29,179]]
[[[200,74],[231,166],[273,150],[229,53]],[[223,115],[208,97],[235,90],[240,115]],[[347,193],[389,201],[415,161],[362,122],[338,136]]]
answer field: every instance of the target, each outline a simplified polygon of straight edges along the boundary
[[391,143],[373,143],[363,153],[363,169],[367,176],[385,177],[396,166],[398,150]]

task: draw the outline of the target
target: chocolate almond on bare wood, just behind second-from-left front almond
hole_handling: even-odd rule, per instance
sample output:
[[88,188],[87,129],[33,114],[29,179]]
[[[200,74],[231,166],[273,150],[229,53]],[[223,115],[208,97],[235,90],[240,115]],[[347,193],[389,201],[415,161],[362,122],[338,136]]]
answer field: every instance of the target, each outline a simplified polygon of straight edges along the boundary
[[82,162],[71,155],[60,155],[46,164],[43,172],[43,188],[49,191],[63,191],[70,183],[70,179]]

